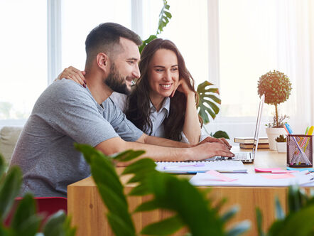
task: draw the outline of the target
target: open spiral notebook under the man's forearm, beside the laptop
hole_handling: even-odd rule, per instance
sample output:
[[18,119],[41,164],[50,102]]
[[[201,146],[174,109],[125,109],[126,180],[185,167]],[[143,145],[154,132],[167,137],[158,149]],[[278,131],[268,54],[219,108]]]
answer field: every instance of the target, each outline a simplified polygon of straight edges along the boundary
[[242,161],[189,161],[156,162],[156,170],[167,173],[197,173],[219,171],[222,173],[247,173]]

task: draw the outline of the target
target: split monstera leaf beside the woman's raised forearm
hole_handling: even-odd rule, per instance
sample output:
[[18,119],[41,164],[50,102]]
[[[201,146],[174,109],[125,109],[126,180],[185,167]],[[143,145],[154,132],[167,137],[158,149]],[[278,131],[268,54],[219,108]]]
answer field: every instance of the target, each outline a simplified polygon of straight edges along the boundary
[[197,109],[204,124],[210,122],[210,117],[215,119],[216,114],[220,111],[220,108],[217,106],[217,104],[221,104],[220,98],[217,97],[219,90],[217,87],[213,87],[213,85],[211,82],[205,81],[197,86],[197,93],[200,97]]

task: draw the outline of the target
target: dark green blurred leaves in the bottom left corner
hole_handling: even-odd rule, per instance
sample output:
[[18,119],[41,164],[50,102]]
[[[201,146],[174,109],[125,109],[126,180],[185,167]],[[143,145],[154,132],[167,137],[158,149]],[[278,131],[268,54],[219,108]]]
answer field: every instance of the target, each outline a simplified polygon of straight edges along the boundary
[[[0,235],[4,236],[74,236],[75,228],[70,226],[70,219],[63,210],[50,216],[43,227],[43,232],[38,232],[43,217],[36,213],[36,201],[29,193],[23,196],[12,210],[14,200],[18,195],[22,182],[22,173],[18,166],[12,166],[7,174],[4,158],[0,154]],[[12,212],[11,212],[12,211]],[[4,221],[12,213],[11,224],[4,226]]]

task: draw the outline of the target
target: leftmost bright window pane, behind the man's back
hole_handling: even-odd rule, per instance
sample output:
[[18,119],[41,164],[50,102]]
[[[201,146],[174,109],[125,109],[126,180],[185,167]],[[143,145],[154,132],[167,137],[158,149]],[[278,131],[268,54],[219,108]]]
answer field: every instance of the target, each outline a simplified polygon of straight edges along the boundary
[[0,120],[11,124],[28,118],[47,86],[47,3],[0,1],[0,21]]

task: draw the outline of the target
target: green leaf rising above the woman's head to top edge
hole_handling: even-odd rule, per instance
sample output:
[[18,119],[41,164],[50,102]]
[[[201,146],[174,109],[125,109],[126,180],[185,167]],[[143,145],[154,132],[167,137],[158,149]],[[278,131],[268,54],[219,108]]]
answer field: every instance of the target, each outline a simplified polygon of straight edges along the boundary
[[167,26],[170,18],[172,17],[169,11],[170,6],[168,5],[166,0],[163,0],[163,8],[161,9],[161,13],[159,14],[158,28],[156,35],[149,36],[146,40],[143,41],[142,45],[139,46],[139,52],[141,53],[145,46],[157,38],[158,34],[163,32],[163,28]]

